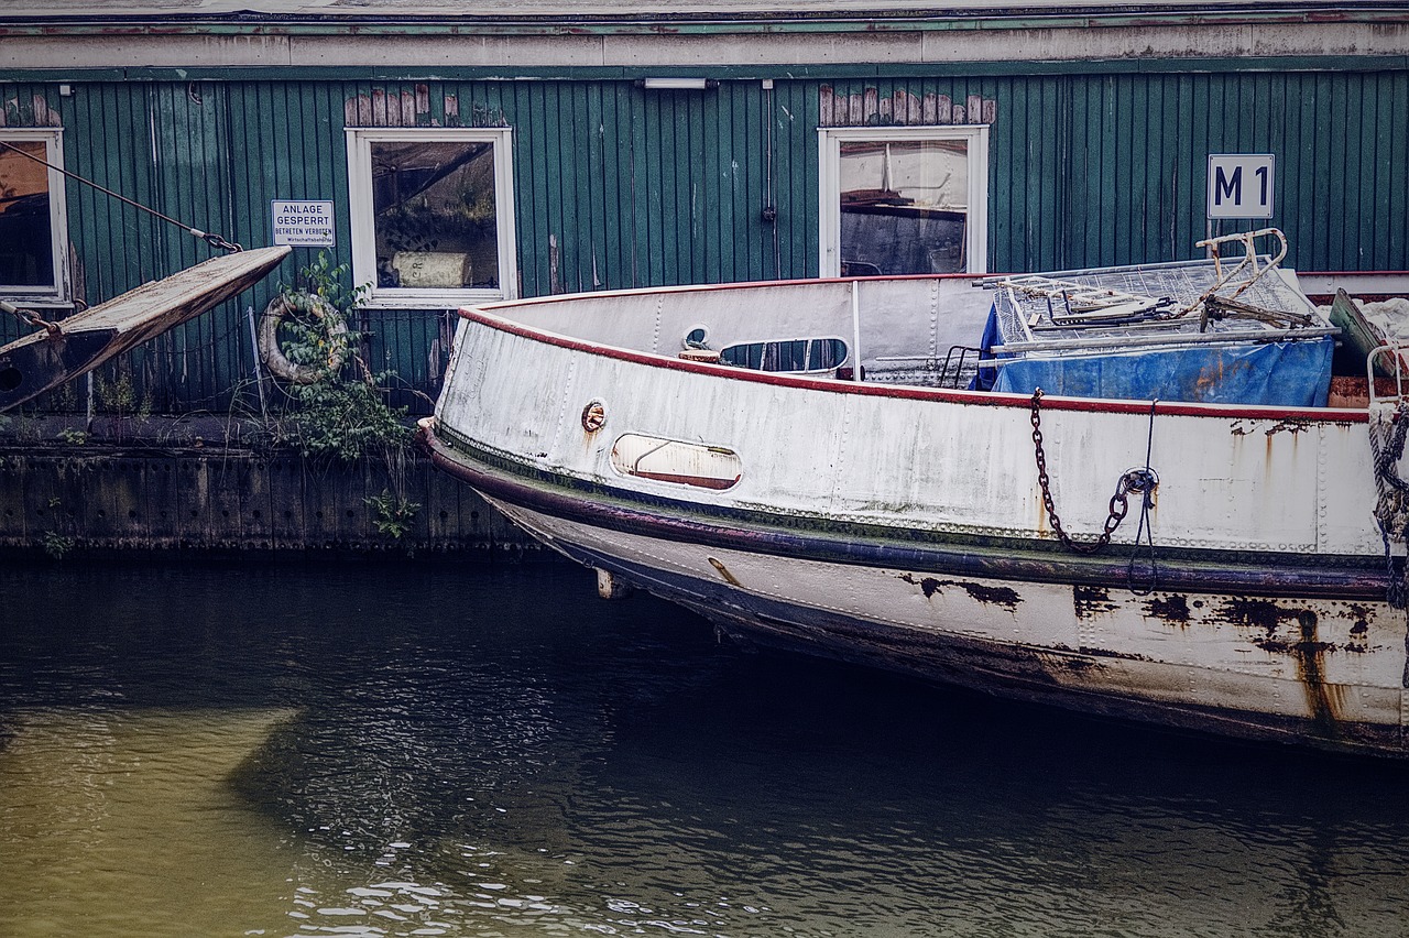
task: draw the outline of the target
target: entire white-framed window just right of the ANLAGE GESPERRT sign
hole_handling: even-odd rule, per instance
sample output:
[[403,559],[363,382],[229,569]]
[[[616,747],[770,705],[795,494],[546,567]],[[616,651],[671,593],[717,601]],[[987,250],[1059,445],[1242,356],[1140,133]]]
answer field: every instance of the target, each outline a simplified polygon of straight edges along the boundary
[[517,294],[509,128],[349,130],[352,276],[372,306]]

